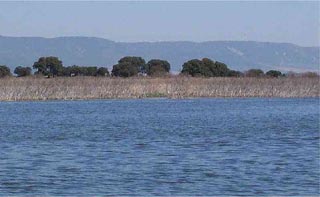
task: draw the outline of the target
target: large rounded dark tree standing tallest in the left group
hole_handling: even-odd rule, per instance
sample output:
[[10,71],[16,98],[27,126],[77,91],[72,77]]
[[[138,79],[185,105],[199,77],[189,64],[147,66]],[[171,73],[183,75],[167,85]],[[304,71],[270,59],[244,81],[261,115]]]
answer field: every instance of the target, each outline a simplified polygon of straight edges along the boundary
[[33,64],[34,69],[38,69],[37,74],[43,74],[47,76],[62,75],[63,66],[62,61],[57,57],[41,57],[37,62]]

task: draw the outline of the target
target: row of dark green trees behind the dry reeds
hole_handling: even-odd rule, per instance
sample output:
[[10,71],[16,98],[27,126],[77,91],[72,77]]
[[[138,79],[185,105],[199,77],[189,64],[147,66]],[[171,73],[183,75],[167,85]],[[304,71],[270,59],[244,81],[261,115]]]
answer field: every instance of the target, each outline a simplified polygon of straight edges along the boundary
[[[142,57],[126,56],[121,58],[117,64],[113,65],[111,73],[106,67],[97,66],[63,66],[58,57],[40,57],[34,62],[34,75],[46,77],[56,76],[166,76],[170,73],[170,63],[166,60],[152,59],[146,62]],[[18,77],[32,75],[31,67],[18,66],[14,69],[14,74]],[[250,69],[245,72],[229,69],[225,63],[213,61],[209,58],[192,59],[182,65],[180,75],[192,77],[282,77],[288,76],[277,70],[269,70],[264,73],[261,69]],[[0,65],[0,77],[12,76],[10,68]],[[317,73],[308,73],[308,76],[318,76]]]

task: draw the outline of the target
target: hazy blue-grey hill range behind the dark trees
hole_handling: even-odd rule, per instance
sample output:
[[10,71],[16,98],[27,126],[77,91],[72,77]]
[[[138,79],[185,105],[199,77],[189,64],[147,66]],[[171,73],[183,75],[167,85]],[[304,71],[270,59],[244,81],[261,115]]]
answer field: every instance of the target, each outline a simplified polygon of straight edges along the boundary
[[319,47],[253,41],[210,42],[114,42],[94,37],[6,37],[0,36],[0,65],[32,66],[41,56],[58,56],[64,65],[96,65],[112,68],[123,56],[141,56],[146,61],[168,60],[180,71],[190,59],[208,57],[230,68],[281,71],[318,71]]

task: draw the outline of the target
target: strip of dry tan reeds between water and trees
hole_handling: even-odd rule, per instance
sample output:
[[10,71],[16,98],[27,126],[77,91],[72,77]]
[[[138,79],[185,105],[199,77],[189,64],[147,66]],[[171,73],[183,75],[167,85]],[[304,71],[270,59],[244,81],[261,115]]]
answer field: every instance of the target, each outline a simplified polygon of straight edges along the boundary
[[0,100],[319,97],[319,78],[2,78]]

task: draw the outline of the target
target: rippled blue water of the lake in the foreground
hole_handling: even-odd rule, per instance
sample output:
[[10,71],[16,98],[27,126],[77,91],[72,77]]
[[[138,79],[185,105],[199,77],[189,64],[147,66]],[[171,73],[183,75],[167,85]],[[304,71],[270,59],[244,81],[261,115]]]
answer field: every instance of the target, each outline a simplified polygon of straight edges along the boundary
[[0,102],[0,196],[319,195],[318,99]]

